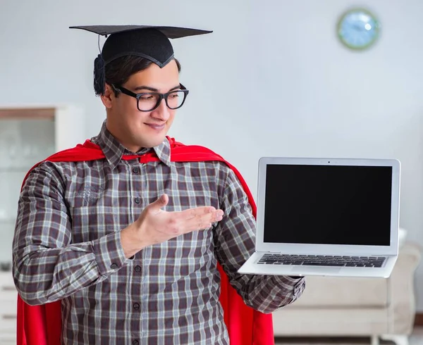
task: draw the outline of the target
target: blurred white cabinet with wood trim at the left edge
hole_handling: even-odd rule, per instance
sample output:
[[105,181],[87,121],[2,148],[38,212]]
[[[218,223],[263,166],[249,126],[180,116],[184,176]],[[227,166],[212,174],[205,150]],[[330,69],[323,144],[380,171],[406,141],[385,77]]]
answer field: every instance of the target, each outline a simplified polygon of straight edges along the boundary
[[0,345],[16,344],[18,295],[10,266],[23,178],[35,163],[85,139],[80,108],[0,106]]

